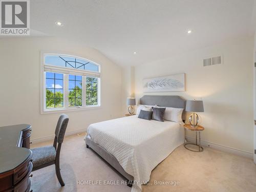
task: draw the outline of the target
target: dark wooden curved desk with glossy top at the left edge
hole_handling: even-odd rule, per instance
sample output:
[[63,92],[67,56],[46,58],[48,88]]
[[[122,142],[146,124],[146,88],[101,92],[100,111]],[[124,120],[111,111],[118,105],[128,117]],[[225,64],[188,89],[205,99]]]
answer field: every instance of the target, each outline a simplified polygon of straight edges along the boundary
[[0,127],[0,192],[29,192],[32,171],[31,126]]

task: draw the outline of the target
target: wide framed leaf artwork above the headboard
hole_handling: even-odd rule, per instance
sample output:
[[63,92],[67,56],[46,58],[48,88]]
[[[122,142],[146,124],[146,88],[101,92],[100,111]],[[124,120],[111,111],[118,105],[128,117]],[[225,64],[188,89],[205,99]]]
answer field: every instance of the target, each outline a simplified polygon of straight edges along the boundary
[[143,92],[185,91],[185,73],[143,79]]

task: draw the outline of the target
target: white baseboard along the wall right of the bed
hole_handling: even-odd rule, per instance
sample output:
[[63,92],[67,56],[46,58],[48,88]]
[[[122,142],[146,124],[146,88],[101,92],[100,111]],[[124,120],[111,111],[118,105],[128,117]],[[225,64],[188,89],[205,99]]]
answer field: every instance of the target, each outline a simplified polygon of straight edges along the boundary
[[[188,142],[193,142],[193,143],[196,142],[196,139],[193,137],[186,136],[186,140]],[[235,154],[235,155],[253,159],[253,153],[246,152],[243,150],[238,150],[237,148],[232,148],[232,147],[228,147],[228,146],[224,146],[224,145],[220,145],[220,144],[216,144],[216,143],[212,143],[212,142],[208,142],[208,141],[204,141],[204,140],[201,140],[201,145],[215,148],[216,150],[220,150],[223,152],[227,152],[227,153],[231,153],[231,154]]]

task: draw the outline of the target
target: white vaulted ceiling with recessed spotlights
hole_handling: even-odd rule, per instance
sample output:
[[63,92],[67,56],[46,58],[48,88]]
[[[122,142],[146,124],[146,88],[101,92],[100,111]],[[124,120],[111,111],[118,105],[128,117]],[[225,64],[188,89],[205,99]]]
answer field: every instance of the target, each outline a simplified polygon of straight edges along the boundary
[[33,30],[79,41],[119,65],[138,65],[254,33],[253,0],[30,2]]

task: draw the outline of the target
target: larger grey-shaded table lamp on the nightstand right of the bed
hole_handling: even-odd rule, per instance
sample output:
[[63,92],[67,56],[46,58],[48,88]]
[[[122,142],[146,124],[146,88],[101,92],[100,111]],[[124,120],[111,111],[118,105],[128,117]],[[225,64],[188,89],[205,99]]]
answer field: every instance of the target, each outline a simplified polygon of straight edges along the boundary
[[199,117],[195,112],[204,112],[203,101],[188,100],[186,102],[186,111],[193,112],[193,114],[189,116],[189,124],[191,127],[197,127]]

